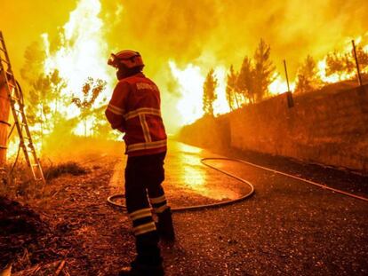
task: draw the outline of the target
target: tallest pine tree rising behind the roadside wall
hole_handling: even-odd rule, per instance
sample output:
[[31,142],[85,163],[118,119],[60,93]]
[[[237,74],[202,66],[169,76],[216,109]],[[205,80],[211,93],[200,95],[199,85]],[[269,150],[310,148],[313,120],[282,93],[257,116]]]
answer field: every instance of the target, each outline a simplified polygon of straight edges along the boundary
[[268,86],[274,81],[276,67],[270,58],[270,46],[260,39],[254,53],[254,99],[262,100],[268,94]]

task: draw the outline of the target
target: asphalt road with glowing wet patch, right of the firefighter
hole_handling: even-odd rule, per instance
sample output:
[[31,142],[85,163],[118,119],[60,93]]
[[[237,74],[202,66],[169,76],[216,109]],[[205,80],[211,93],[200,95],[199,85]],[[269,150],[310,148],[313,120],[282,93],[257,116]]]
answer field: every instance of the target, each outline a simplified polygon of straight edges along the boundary
[[[169,144],[164,188],[172,207],[234,199],[249,190],[200,163],[219,156]],[[167,275],[368,274],[368,202],[236,162],[209,163],[252,182],[255,194],[228,207],[174,214],[178,242],[163,246]],[[124,159],[116,174],[123,168]],[[328,178],[341,182],[336,174]],[[112,179],[122,185],[121,177]],[[347,190],[356,185],[344,183]]]

